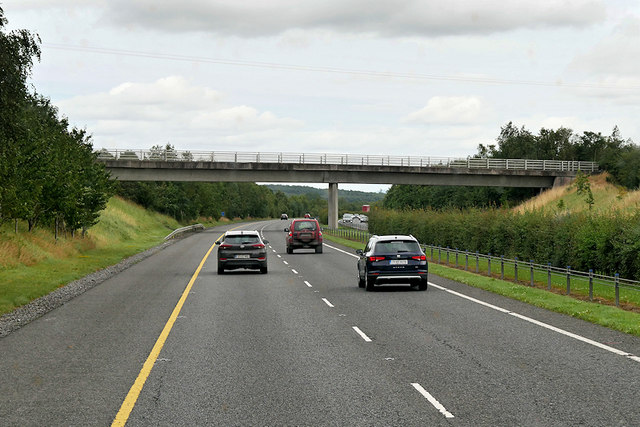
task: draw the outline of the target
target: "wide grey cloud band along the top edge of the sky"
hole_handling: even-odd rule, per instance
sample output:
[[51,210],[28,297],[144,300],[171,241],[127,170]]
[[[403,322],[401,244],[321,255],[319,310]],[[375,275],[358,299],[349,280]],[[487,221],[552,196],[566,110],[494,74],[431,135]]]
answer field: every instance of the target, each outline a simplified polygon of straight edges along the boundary
[[604,19],[602,0],[117,0],[107,16],[119,25],[241,37],[288,30],[375,36],[489,34],[518,28],[585,27]]

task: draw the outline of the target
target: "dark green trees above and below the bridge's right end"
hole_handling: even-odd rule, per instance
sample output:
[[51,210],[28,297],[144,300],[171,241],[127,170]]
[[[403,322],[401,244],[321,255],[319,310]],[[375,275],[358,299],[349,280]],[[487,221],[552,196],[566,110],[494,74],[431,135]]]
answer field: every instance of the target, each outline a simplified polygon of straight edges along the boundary
[[[571,129],[542,128],[534,134],[512,122],[500,129],[497,144],[478,146],[475,158],[594,161],[613,182],[628,189],[640,187],[640,147],[623,139],[615,127],[611,135]],[[389,209],[489,208],[516,205],[537,194],[535,188],[393,185],[382,205]]]

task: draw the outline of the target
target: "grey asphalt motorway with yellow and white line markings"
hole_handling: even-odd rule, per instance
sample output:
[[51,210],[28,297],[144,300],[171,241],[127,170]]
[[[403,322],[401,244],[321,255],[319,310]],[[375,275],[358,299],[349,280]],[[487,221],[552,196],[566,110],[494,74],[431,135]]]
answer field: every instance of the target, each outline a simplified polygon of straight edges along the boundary
[[[191,235],[0,338],[0,425],[640,424],[639,338],[433,275],[365,292],[285,224]],[[231,228],[268,274],[203,261]]]

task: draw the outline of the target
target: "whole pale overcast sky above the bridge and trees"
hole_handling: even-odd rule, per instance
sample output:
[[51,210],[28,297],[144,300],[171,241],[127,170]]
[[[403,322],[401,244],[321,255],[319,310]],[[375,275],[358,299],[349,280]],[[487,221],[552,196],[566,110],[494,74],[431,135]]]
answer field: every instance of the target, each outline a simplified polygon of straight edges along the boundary
[[636,0],[0,4],[95,148],[466,157],[509,121],[640,143]]

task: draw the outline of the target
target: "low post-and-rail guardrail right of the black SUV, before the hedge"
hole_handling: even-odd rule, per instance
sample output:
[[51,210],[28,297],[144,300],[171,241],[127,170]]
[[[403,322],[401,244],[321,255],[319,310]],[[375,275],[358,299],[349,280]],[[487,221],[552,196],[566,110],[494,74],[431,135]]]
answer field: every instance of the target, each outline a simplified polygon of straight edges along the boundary
[[[566,289],[566,295],[570,295],[572,292],[585,296],[588,294],[589,301],[600,296],[615,301],[618,307],[620,306],[621,290],[640,291],[639,281],[624,279],[618,274],[607,276],[596,274],[593,270],[588,272],[573,270],[571,266],[553,267],[551,263],[536,264],[533,260],[509,259],[503,256],[485,255],[434,245],[424,245],[424,248],[426,249],[425,253],[430,252],[432,262],[435,262],[437,255],[439,264],[453,264],[457,268],[464,266],[467,271],[485,273],[487,276],[514,280],[517,283],[527,283],[529,286],[546,282],[547,290],[554,287]],[[471,260],[471,266],[469,260]]]

